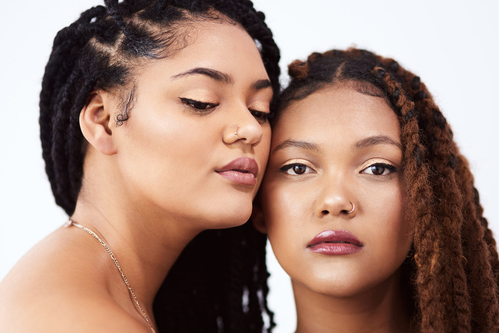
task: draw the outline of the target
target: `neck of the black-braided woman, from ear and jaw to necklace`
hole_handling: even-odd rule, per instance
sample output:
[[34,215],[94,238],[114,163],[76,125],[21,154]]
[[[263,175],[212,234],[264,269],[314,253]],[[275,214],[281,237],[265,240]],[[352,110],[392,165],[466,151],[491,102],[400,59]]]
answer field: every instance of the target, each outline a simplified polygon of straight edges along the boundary
[[[95,232],[109,246],[138,301],[152,316],[152,303],[163,280],[183,249],[202,230],[199,224],[156,207],[147,193],[137,191],[133,182],[116,171],[116,164],[115,155],[104,156],[89,145],[71,219]],[[196,225],[198,229],[193,227]],[[97,240],[88,242],[98,244]],[[94,250],[105,251],[98,247]],[[119,285],[121,276],[114,263],[108,268],[103,278],[110,286]]]

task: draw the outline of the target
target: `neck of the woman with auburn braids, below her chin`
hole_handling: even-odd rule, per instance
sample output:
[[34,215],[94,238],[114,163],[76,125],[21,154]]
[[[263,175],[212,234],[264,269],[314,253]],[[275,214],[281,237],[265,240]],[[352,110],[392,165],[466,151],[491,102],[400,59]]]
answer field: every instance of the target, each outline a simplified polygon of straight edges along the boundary
[[411,332],[410,314],[399,274],[354,296],[316,293],[292,281],[296,303],[296,333]]

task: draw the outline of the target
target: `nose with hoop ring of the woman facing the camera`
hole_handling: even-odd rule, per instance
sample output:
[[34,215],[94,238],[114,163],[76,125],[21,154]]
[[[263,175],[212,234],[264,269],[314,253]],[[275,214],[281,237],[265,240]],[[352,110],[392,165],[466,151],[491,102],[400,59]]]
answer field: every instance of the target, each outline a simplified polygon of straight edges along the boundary
[[322,185],[317,192],[314,203],[314,214],[319,218],[327,216],[353,217],[357,214],[358,204],[355,204],[350,191],[351,181],[341,175],[329,176],[322,179]]

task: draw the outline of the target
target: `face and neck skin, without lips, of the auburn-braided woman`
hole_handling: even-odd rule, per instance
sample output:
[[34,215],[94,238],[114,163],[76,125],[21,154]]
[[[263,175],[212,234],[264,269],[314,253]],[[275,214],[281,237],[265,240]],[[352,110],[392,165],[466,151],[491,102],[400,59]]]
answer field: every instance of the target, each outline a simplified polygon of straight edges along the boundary
[[[394,111],[350,83],[329,85],[282,110],[270,151],[256,227],[291,278],[296,333],[409,332],[399,268],[411,224]],[[313,252],[326,230],[354,234],[360,251]]]

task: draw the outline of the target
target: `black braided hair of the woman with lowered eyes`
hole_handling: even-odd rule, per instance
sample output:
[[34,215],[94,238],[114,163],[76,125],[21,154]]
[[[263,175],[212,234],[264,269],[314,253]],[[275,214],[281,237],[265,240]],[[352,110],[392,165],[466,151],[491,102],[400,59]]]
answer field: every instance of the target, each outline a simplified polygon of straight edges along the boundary
[[[120,99],[115,125],[128,119],[141,61],[187,46],[196,21],[240,24],[255,40],[274,96],[279,49],[250,0],[104,0],[54,38],[40,92],[40,138],[57,205],[71,215],[81,188],[86,141],[79,113],[95,89]],[[275,103],[272,103],[274,105]],[[265,236],[250,224],[198,235],[172,267],[154,303],[165,332],[262,332],[274,326],[266,305]],[[263,321],[262,317],[265,319]]]

